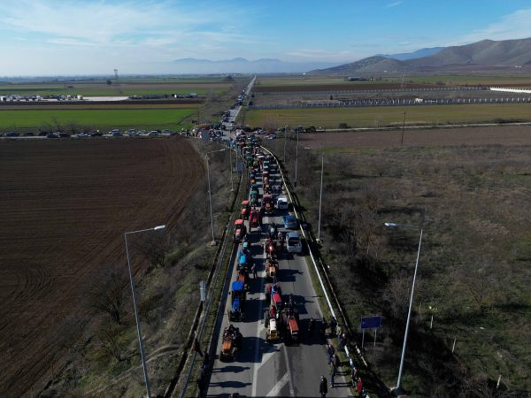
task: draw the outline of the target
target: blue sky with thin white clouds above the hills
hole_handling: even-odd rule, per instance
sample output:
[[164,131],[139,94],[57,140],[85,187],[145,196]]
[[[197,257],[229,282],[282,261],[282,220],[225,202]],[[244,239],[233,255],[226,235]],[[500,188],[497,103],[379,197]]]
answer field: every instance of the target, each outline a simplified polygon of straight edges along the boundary
[[527,37],[529,0],[1,0],[0,76],[180,73],[189,57],[340,65]]

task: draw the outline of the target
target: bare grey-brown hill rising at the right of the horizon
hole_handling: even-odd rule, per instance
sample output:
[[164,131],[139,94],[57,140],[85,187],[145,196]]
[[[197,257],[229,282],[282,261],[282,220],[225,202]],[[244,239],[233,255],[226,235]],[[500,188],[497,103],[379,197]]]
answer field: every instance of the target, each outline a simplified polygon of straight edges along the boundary
[[[419,54],[423,50],[415,51],[409,55]],[[404,54],[397,55],[404,56]],[[531,67],[531,38],[503,41],[482,40],[463,46],[445,47],[427,57],[405,60],[382,56],[368,57],[350,64],[314,70],[309,74],[366,75],[384,73],[384,71],[387,73],[420,73],[437,70],[471,72],[489,69],[509,70],[515,66]]]

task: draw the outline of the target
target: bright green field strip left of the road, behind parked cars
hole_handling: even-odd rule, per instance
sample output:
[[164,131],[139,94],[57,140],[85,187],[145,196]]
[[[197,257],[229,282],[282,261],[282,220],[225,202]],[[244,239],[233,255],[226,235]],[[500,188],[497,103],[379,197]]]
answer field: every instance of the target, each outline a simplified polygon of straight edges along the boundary
[[38,129],[60,126],[81,128],[177,128],[196,109],[112,109],[112,110],[21,110],[0,111],[0,129]]

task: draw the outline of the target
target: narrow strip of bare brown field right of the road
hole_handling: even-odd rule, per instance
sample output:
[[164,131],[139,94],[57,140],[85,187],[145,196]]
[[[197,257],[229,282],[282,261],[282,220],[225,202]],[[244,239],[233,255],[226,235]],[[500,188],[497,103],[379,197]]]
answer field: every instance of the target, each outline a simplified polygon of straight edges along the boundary
[[[399,148],[402,130],[301,134],[304,147]],[[531,126],[488,126],[404,130],[404,147],[531,145]]]

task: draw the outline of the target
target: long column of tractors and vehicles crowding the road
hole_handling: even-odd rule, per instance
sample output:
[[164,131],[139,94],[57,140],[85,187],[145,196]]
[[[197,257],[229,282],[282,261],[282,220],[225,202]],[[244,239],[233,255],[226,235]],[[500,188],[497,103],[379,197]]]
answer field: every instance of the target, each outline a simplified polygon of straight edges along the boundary
[[[258,146],[254,134],[240,134],[235,148],[242,156],[249,172],[249,196],[241,203],[240,218],[235,220],[236,277],[230,285],[230,300],[227,308],[229,325],[224,330],[219,359],[234,360],[240,349],[241,333],[234,322],[245,319],[245,307],[249,292],[250,275],[257,278],[257,261],[251,254],[250,241],[260,241],[265,254],[265,313],[266,341],[271,343],[300,341],[299,315],[291,296],[281,293],[279,254],[300,254],[302,241],[296,232],[298,222],[293,215],[285,215],[283,226],[277,226],[273,216],[279,211],[287,212],[289,202],[282,195],[280,181],[276,178],[276,165],[272,156]],[[261,184],[258,183],[261,181]],[[262,192],[260,193],[260,188]],[[271,217],[271,218],[268,218]],[[264,219],[269,220],[266,224]],[[281,230],[283,229],[283,231]],[[266,239],[263,234],[266,230]],[[251,239],[252,238],[252,239]]]

